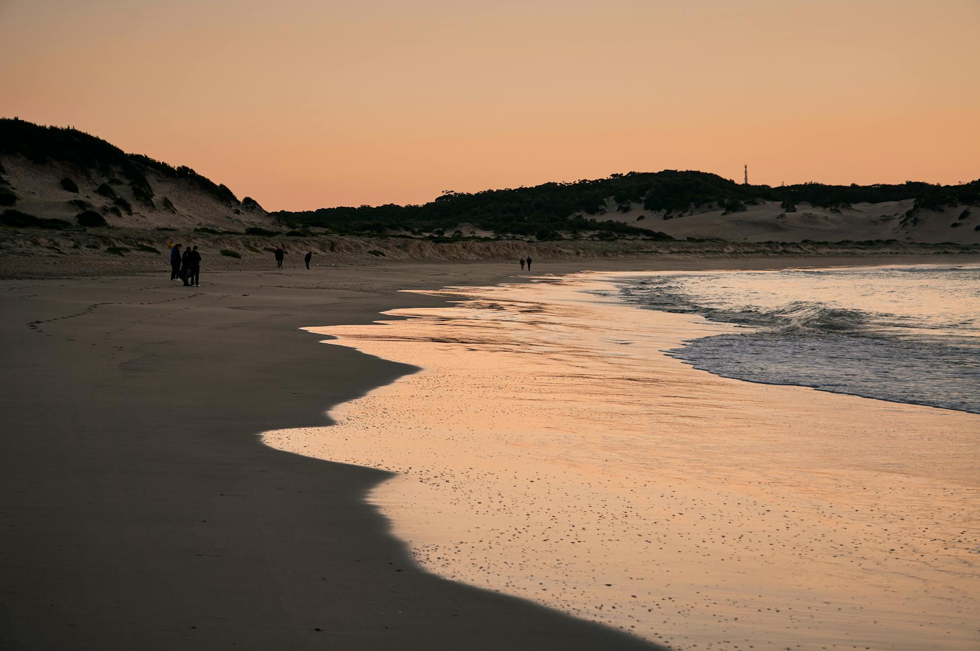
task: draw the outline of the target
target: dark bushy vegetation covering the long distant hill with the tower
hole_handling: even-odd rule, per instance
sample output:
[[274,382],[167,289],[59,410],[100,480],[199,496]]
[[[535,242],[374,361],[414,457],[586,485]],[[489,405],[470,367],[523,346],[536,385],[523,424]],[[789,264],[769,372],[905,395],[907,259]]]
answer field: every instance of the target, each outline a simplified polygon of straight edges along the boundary
[[[430,233],[450,240],[446,232],[458,224],[503,236],[538,240],[592,233],[600,239],[644,237],[668,240],[657,231],[602,219],[608,200],[615,209],[662,211],[665,218],[691,209],[739,212],[760,201],[780,202],[785,212],[798,204],[847,209],[857,203],[915,200],[915,209],[980,203],[980,180],[957,186],[907,182],[887,185],[825,185],[802,183],[770,187],[745,185],[717,174],[663,170],[629,172],[573,183],[544,183],[530,188],[486,190],[473,194],[447,192],[422,206],[362,206],[301,212],[274,212],[294,229],[320,227],[338,234],[383,235]],[[638,221],[638,220],[637,220]],[[454,234],[456,235],[456,234]],[[462,234],[456,235],[457,238]]]

